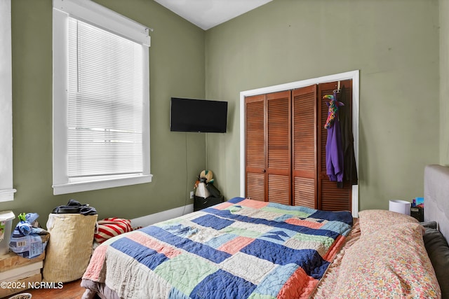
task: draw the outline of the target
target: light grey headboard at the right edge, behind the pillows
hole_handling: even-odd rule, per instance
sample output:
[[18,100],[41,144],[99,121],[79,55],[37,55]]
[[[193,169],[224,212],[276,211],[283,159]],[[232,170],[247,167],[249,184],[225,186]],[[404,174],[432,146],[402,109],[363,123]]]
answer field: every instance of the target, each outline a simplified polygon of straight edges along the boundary
[[436,221],[449,240],[449,167],[424,168],[424,221]]

